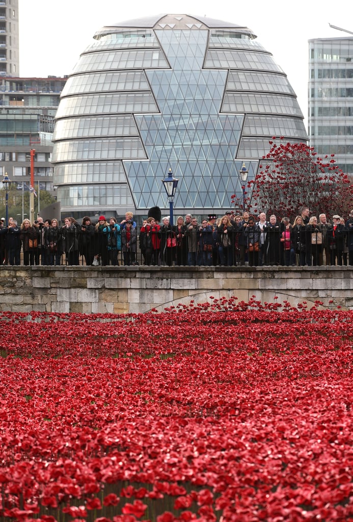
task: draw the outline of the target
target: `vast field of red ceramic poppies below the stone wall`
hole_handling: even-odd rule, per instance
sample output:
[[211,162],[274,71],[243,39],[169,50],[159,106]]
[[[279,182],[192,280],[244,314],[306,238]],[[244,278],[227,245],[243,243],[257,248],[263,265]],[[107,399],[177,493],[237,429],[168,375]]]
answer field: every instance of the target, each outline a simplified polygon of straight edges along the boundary
[[353,520],[353,313],[0,313],[0,517]]

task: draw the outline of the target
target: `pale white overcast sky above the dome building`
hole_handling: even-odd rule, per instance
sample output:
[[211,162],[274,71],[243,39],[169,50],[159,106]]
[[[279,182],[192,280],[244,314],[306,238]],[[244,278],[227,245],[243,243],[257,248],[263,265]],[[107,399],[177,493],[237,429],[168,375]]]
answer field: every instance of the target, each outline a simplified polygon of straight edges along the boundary
[[287,74],[306,124],[308,40],[349,36],[328,23],[353,31],[351,0],[19,0],[20,75],[68,75],[101,27],[158,14],[208,16],[252,29]]

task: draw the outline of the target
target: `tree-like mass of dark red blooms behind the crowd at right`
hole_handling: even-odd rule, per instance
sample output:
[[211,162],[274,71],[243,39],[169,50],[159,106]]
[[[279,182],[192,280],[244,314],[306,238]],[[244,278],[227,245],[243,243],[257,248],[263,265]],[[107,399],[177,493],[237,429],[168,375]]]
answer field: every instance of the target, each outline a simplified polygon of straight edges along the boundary
[[[271,149],[263,156],[258,174],[247,183],[251,198],[246,198],[245,206],[252,213],[288,216],[292,222],[302,206],[316,216],[321,212],[327,217],[348,214],[353,185],[335,164],[334,154],[320,158],[305,143],[277,145],[275,139],[269,142]],[[236,204],[236,196],[232,201]]]

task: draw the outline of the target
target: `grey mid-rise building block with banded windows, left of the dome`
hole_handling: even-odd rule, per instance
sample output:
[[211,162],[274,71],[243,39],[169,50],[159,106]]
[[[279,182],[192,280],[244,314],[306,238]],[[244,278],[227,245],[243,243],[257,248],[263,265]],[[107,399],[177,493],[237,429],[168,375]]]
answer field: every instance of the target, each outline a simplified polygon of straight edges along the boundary
[[52,134],[66,78],[0,77],[0,181],[5,172],[29,184],[30,150],[35,149],[34,179],[53,189]]

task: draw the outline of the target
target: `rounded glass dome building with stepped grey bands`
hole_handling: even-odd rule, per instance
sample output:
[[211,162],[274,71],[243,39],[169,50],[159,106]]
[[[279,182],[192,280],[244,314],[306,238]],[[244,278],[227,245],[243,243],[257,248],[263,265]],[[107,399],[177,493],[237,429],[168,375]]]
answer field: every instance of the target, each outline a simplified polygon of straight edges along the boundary
[[[273,136],[307,141],[288,79],[244,26],[190,15],[114,23],[94,35],[56,113],[54,184],[62,212],[219,215],[241,196]],[[167,211],[166,211],[167,213]]]

